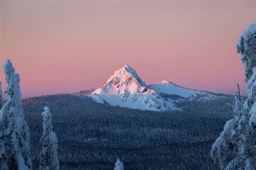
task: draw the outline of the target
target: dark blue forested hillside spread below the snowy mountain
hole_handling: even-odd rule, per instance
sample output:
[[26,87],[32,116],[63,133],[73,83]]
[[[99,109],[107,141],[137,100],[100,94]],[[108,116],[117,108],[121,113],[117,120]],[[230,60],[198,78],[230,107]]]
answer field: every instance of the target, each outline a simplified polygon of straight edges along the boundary
[[60,169],[218,169],[211,145],[233,114],[233,97],[177,103],[183,110],[153,112],[98,104],[57,94],[23,100],[38,167],[44,106],[58,137]]

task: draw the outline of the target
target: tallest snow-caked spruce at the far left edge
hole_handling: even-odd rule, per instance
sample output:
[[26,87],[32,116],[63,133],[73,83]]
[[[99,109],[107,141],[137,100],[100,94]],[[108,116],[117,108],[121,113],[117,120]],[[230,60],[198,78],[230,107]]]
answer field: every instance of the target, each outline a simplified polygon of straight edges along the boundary
[[4,64],[4,73],[8,84],[5,90],[8,101],[0,112],[1,168],[31,169],[30,132],[22,110],[20,79],[10,60]]

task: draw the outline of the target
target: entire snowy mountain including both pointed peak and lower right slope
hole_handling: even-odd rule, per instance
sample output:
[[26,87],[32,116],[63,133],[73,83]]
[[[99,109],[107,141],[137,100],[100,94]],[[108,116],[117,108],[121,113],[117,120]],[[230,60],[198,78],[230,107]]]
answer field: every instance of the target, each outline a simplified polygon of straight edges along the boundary
[[192,99],[197,96],[213,97],[214,95],[189,90],[166,80],[146,85],[131,66],[124,65],[115,71],[103,85],[87,96],[97,103],[108,103],[112,106],[167,111],[179,110],[175,102],[180,100]]

